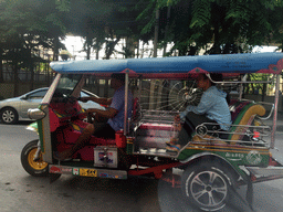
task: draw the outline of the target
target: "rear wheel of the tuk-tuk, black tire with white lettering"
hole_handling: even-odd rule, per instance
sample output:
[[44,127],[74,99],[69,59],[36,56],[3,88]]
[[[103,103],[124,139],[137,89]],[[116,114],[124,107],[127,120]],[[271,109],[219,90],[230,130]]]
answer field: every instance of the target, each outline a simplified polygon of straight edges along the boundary
[[181,178],[185,201],[203,211],[217,211],[231,199],[233,179],[228,168],[202,161],[188,167]]

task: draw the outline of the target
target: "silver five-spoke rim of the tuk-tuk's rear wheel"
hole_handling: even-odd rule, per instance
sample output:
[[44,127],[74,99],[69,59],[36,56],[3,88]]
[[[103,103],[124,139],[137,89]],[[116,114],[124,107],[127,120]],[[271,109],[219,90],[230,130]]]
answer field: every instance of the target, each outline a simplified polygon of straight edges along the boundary
[[[227,181],[213,171],[202,171],[196,174],[190,182],[189,190],[193,200],[207,208],[220,205],[228,195]],[[189,197],[188,191],[187,195]]]

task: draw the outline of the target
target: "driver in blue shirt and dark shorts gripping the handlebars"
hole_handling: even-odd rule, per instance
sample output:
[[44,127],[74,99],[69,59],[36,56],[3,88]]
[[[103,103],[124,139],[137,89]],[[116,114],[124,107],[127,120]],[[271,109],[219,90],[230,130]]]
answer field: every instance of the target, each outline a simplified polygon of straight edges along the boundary
[[[67,160],[72,158],[78,149],[85,146],[91,136],[94,134],[97,137],[115,138],[117,130],[124,129],[125,117],[125,74],[112,74],[111,87],[115,89],[113,98],[96,98],[96,97],[82,97],[82,102],[93,100],[102,105],[109,105],[106,110],[90,108],[87,114],[95,113],[95,123],[88,124],[82,135],[71,149],[54,155],[57,160]],[[128,109],[127,115],[130,118],[133,109],[133,95],[128,93]],[[106,118],[106,121],[105,121]],[[104,121],[101,121],[104,119]]]

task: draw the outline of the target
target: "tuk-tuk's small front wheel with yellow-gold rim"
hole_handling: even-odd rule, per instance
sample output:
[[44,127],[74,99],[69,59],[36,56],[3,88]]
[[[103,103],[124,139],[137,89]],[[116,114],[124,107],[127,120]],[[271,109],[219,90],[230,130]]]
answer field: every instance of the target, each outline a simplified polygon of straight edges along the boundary
[[49,173],[49,165],[42,160],[42,155],[40,153],[39,160],[34,161],[33,157],[38,150],[39,139],[32,140],[27,144],[21,152],[21,163],[23,169],[34,177],[45,177]]

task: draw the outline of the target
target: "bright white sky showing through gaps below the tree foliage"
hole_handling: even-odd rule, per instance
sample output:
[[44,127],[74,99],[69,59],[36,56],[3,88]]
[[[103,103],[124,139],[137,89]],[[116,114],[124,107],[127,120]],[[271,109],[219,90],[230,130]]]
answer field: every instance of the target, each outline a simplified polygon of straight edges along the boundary
[[[76,55],[76,59],[75,60],[85,60],[86,57],[86,53],[85,52],[80,52],[82,49],[83,49],[83,38],[81,36],[66,36],[65,40],[62,41],[67,51],[72,54],[72,55]],[[151,54],[151,50],[150,50],[150,44],[146,47],[148,47],[148,52],[144,55],[145,57],[148,57],[150,56]],[[118,51],[122,51],[122,44],[118,44],[117,47],[116,47]],[[168,47],[169,49],[169,47]],[[255,46],[253,49],[253,52],[274,52],[277,47],[276,46]],[[158,55],[163,55],[163,51],[159,50],[158,51]],[[104,50],[101,50],[99,51],[99,57],[104,56]],[[120,59],[122,55],[113,55],[115,59]],[[91,54],[91,60],[95,60],[95,52],[92,52]]]

